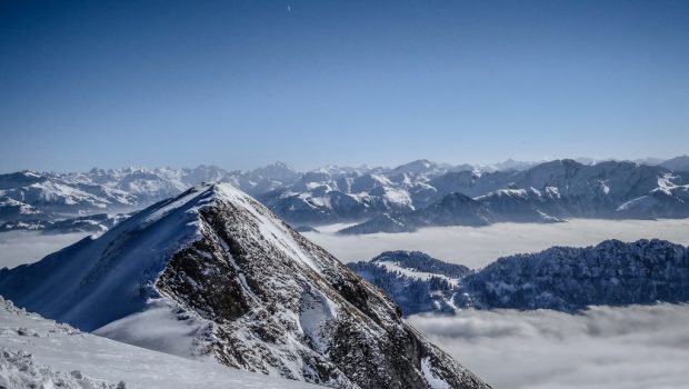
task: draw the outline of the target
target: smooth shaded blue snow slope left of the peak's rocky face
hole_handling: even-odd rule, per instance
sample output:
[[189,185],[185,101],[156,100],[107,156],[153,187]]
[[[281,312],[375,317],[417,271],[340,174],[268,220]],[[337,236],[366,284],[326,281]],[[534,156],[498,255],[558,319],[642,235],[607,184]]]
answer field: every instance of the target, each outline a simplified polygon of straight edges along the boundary
[[[177,199],[177,205],[199,196],[202,193],[198,189],[189,190]],[[148,298],[157,295],[148,282],[164,267],[167,258],[198,239],[193,207],[172,208],[173,203],[151,206],[98,239],[84,238],[48,256],[40,266],[0,270],[8,275],[0,281],[6,290],[2,295],[87,331],[140,311]],[[141,252],[152,255],[141,260]],[[40,287],[26,283],[33,280],[41,280]]]

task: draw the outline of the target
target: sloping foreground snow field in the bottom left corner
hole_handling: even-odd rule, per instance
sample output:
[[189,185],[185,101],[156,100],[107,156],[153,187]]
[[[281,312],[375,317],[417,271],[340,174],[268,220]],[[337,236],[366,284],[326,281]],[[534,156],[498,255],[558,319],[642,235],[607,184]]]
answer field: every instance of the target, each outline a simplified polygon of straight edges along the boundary
[[[8,351],[9,356],[3,351]],[[41,369],[38,376],[29,379],[28,373],[12,368],[17,363],[11,359],[17,359],[17,355],[21,353],[30,353],[34,365],[50,371]],[[74,376],[79,375],[72,371],[78,371],[86,380],[77,380]],[[84,382],[94,388],[100,388],[101,383],[116,388],[120,381],[128,389],[316,388],[304,382],[193,361],[80,332],[67,325],[27,313],[0,298],[0,387],[21,388],[28,387],[29,382],[38,382],[50,388],[57,379],[66,377],[80,385],[68,388],[90,388]],[[3,382],[3,379],[14,379],[14,386],[12,381]]]

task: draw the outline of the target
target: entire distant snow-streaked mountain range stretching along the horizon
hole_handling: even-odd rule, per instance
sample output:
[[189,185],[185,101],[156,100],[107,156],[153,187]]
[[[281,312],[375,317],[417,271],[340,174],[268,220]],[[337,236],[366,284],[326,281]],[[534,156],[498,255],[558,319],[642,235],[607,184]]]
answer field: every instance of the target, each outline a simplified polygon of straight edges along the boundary
[[201,182],[230,182],[298,228],[358,222],[343,233],[568,218],[686,218],[688,171],[689,157],[657,164],[508,160],[491,167],[417,160],[396,168],[328,166],[308,172],[281,162],[251,171],[208,166],[21,171],[0,174],[0,231],[102,232],[123,215]]

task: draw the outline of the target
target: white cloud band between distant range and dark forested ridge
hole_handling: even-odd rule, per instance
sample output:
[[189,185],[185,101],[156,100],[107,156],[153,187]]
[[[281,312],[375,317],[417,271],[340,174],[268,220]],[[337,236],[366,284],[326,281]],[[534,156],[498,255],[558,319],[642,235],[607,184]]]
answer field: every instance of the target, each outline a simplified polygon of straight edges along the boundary
[[552,246],[582,247],[606,239],[635,241],[667,239],[689,245],[689,219],[680,220],[586,220],[563,223],[497,223],[488,227],[436,227],[411,233],[338,236],[326,228],[321,233],[307,232],[344,262],[368,260],[386,250],[419,250],[432,257],[470,268],[521,252],[541,251]]

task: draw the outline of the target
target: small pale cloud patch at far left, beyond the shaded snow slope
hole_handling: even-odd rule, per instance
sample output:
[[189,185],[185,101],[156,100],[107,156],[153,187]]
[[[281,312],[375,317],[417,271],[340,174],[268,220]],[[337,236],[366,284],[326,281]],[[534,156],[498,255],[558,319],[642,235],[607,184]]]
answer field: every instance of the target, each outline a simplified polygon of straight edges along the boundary
[[43,235],[36,231],[0,232],[0,269],[31,263],[83,237],[86,232]]

